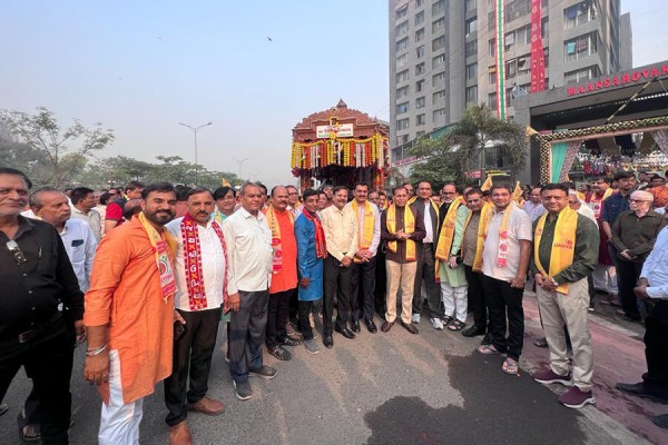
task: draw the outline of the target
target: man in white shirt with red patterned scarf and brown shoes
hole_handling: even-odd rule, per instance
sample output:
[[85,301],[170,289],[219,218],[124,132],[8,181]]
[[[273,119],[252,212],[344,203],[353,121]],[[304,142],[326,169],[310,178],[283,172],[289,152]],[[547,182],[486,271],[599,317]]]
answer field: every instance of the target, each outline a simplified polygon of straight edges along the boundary
[[212,218],[215,200],[209,190],[189,190],[186,205],[186,216],[166,226],[177,244],[174,367],[165,379],[169,411],[165,422],[171,444],[191,442],[188,411],[207,415],[225,411],[220,402],[206,396],[227,278],[225,238]]

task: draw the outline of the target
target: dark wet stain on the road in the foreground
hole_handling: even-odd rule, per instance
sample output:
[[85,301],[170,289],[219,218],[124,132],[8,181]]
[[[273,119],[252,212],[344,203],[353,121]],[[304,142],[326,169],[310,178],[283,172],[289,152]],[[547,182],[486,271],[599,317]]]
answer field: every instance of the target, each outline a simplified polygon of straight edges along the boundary
[[449,357],[450,384],[463,407],[432,408],[419,397],[397,396],[365,415],[369,445],[387,444],[581,444],[574,409],[521,373],[501,372],[501,358]]

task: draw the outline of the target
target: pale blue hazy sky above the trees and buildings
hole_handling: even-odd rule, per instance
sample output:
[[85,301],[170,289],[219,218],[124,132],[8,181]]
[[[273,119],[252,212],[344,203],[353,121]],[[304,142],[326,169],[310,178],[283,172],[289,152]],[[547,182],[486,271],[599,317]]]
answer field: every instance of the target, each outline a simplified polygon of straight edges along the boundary
[[[463,1],[463,0],[462,0]],[[668,4],[622,0],[633,66],[668,59]],[[296,184],[292,129],[343,99],[389,120],[386,0],[3,0],[0,109],[102,122],[98,156],[180,156]],[[271,39],[271,40],[269,40]],[[236,159],[236,160],[235,160]]]

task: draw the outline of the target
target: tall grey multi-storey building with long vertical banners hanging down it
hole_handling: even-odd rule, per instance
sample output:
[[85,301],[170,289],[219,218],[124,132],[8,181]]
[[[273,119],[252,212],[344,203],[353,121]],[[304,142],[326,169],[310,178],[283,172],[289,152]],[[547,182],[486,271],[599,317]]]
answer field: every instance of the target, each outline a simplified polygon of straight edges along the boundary
[[[483,102],[498,109],[498,2],[389,1],[392,161],[406,158],[406,149],[420,136],[456,122],[470,105]],[[505,117],[512,119],[514,98],[531,91],[531,8],[537,0],[503,3],[502,93]],[[541,1],[544,88],[620,71],[620,58],[628,63],[630,42],[622,46],[620,39],[630,39],[630,19],[620,24],[619,3]]]

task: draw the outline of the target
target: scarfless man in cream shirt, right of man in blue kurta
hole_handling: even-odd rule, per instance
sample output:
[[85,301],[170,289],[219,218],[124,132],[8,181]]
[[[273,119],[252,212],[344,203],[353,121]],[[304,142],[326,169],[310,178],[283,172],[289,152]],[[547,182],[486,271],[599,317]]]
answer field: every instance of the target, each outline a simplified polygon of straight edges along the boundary
[[[345,338],[355,338],[348,329],[351,319],[351,277],[352,264],[357,251],[357,218],[355,212],[346,208],[348,190],[344,186],[334,188],[332,207],[321,212],[328,256],[325,259],[324,305],[323,305],[323,344],[332,347],[332,327]],[[334,298],[337,299],[336,322],[334,316]]]

